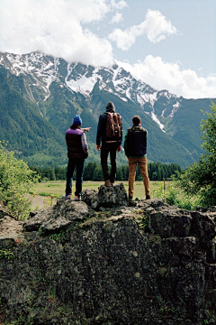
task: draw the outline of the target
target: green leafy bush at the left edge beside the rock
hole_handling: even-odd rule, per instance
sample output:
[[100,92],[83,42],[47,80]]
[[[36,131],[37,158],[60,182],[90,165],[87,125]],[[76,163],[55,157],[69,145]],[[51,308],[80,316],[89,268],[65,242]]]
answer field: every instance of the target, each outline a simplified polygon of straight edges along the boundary
[[28,217],[31,200],[27,198],[27,194],[37,181],[38,176],[27,163],[14,158],[14,152],[6,151],[0,142],[0,201],[16,218]]

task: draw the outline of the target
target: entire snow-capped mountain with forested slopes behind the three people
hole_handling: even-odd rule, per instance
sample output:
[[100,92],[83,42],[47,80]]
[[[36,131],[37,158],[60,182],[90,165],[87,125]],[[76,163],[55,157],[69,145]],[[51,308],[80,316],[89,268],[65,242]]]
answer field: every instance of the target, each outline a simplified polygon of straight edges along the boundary
[[[148,130],[148,159],[185,167],[202,153],[201,109],[210,110],[211,99],[185,99],[157,91],[118,65],[67,63],[40,52],[0,52],[0,77],[0,140],[8,140],[25,157],[31,155],[32,164],[41,159],[42,144],[46,144],[43,161],[51,161],[50,155],[61,156],[62,149],[55,151],[65,145],[68,121],[75,114],[82,114],[85,126],[92,126],[88,141],[94,144],[98,116],[110,100],[122,116],[123,133],[132,116],[141,117]],[[34,154],[36,148],[39,156]],[[90,159],[96,159],[92,148]],[[123,154],[119,157],[126,162]]]

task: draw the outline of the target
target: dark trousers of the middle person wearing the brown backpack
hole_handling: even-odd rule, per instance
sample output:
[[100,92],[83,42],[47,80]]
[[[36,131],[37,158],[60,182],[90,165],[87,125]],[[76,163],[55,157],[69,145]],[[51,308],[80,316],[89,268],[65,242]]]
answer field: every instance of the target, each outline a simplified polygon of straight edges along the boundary
[[[116,174],[116,153],[119,143],[104,143],[101,147],[101,164],[103,169],[103,178],[104,181],[110,180],[114,182]],[[108,154],[110,153],[111,160],[111,173],[109,173],[107,159]]]

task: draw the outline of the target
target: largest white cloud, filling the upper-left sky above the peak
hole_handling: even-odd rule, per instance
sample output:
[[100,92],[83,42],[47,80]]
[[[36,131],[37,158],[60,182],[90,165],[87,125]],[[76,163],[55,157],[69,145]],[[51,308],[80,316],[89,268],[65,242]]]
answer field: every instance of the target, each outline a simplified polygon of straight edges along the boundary
[[111,42],[83,24],[99,22],[124,6],[122,0],[1,0],[1,51],[42,51],[67,61],[112,64]]

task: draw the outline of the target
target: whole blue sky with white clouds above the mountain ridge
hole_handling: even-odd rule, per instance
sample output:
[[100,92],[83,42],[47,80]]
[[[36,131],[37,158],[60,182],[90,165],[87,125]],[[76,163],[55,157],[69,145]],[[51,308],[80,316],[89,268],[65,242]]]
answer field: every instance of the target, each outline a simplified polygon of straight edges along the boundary
[[216,98],[215,0],[0,0],[0,51],[116,61],[151,87]]

